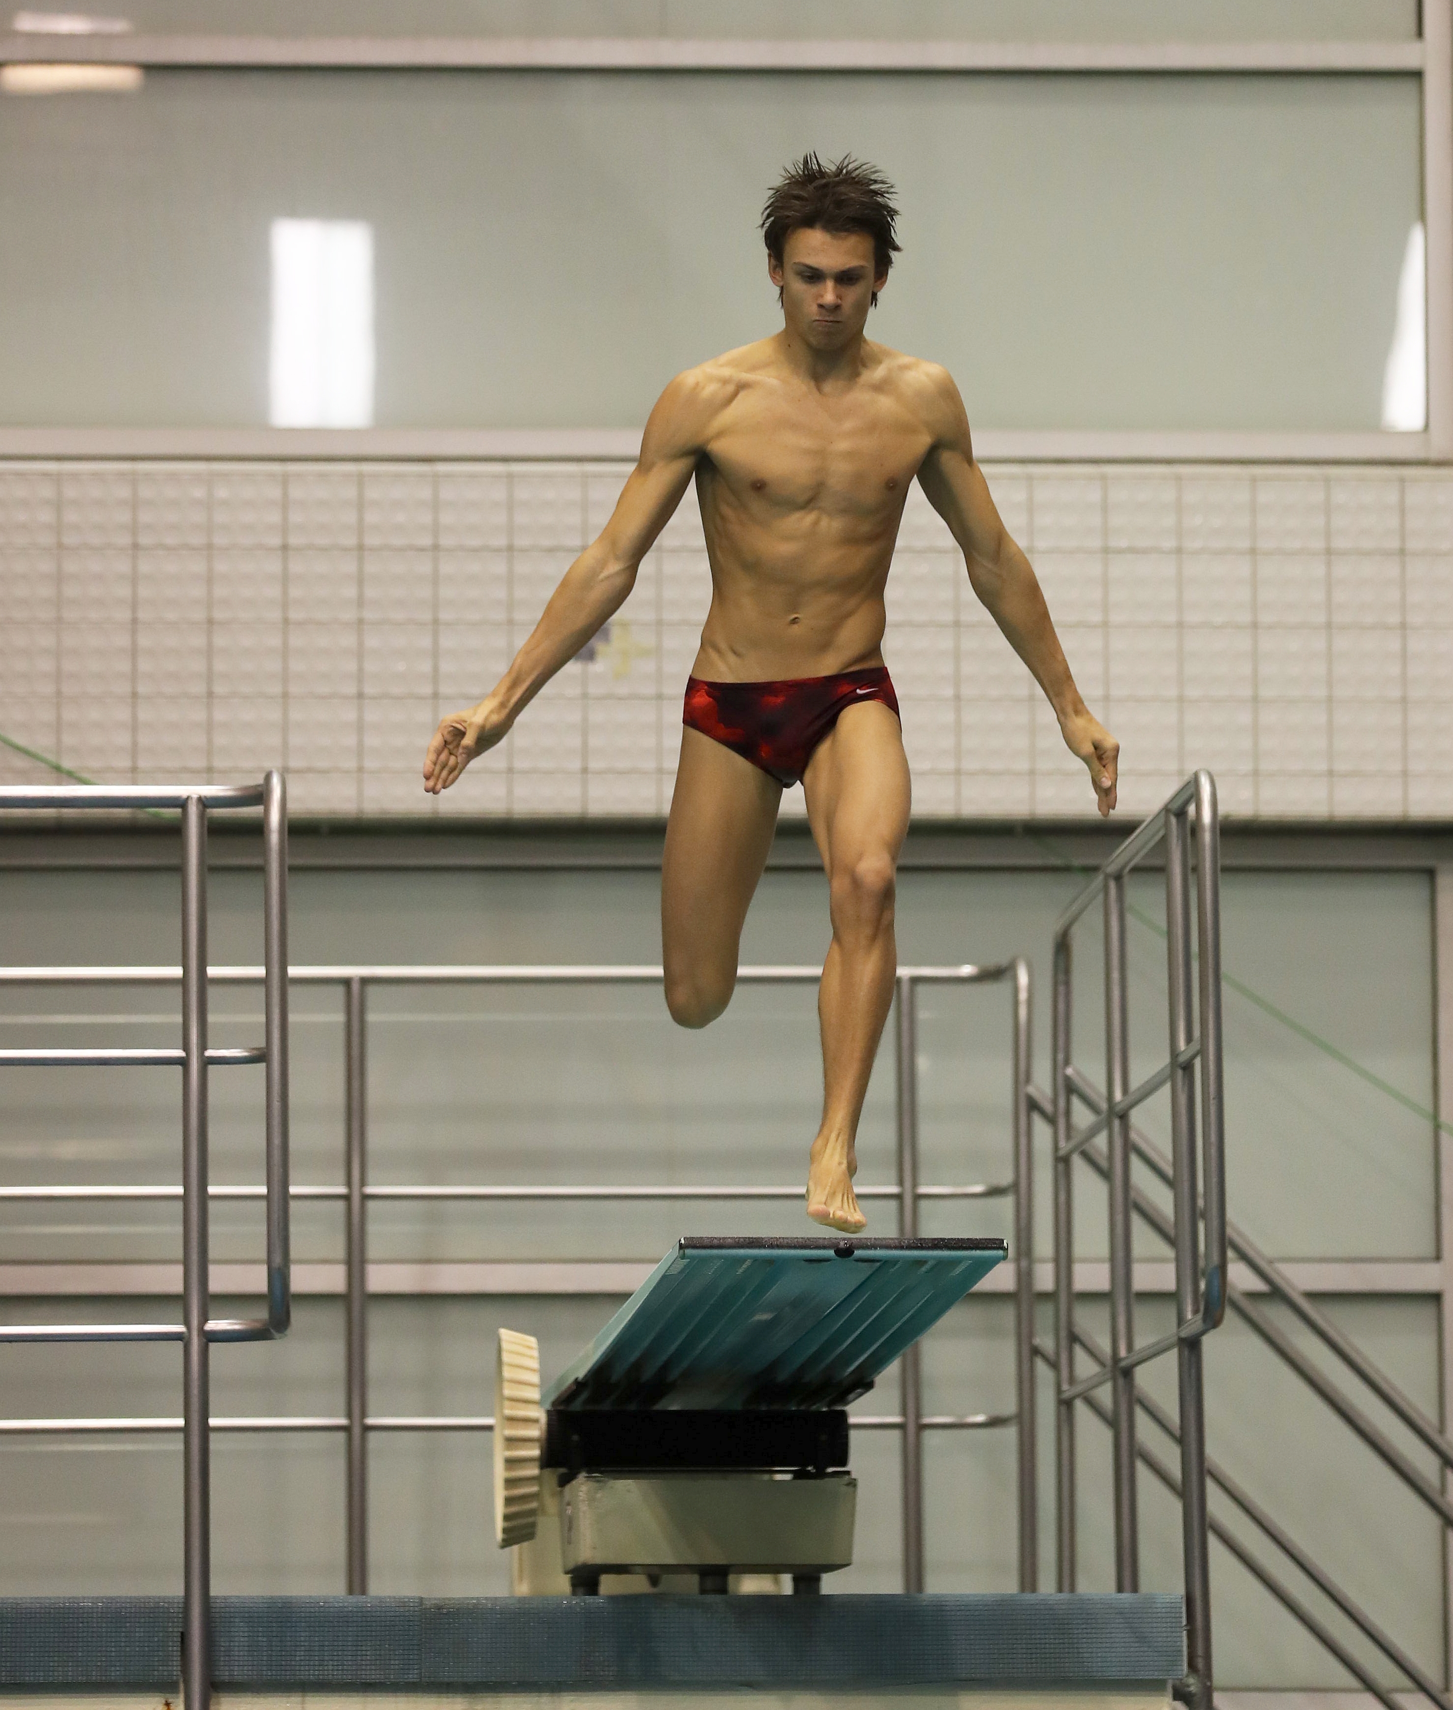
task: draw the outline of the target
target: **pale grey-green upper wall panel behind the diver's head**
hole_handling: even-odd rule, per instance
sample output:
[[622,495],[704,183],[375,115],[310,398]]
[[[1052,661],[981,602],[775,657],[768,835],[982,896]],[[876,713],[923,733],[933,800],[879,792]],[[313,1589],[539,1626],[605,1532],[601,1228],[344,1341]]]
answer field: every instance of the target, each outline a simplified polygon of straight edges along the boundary
[[154,72],[0,101],[10,424],[267,421],[269,229],[375,227],[377,424],[638,426],[770,333],[803,149],[897,181],[871,330],[991,428],[1374,429],[1414,77]]

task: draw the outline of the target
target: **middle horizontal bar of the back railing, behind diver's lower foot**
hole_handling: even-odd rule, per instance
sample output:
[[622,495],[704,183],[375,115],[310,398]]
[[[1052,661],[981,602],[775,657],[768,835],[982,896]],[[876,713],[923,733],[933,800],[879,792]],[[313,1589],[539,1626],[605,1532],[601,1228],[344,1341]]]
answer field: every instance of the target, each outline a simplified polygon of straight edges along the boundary
[[[1013,1194],[1013,1182],[969,1182],[964,1187],[941,1185],[941,1183],[924,1183],[919,1187],[919,1199],[1006,1199]],[[739,1199],[770,1199],[770,1200],[798,1200],[803,1197],[801,1187],[760,1187],[760,1185],[743,1185],[743,1187],[662,1187],[655,1183],[647,1185],[623,1185],[613,1187],[606,1185],[585,1185],[585,1187],[498,1187],[498,1185],[430,1185],[430,1183],[385,1183],[378,1187],[366,1187],[363,1190],[365,1199],[390,1199],[390,1200],[739,1200]],[[897,1187],[859,1187],[859,1199],[898,1199],[902,1190]],[[243,1183],[243,1185],[222,1185],[207,1188],[209,1199],[265,1199],[267,1188],[262,1183]],[[347,1199],[347,1188],[342,1185],[329,1187],[291,1187],[291,1199],[322,1199],[322,1200],[344,1200]],[[89,1187],[86,1183],[72,1185],[39,1185],[39,1187],[0,1187],[0,1202],[21,1200],[21,1202],[86,1202],[86,1200],[178,1200],[181,1199],[181,1188],[176,1183],[164,1183],[159,1187],[127,1187],[123,1183],[99,1183]]]

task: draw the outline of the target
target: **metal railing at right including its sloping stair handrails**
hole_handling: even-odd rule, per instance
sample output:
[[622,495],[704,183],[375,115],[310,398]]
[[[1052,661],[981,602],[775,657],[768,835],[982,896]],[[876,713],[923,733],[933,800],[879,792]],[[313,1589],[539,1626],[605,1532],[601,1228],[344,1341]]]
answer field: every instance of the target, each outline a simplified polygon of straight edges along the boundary
[[[1196,894],[1200,925],[1200,999],[1201,999],[1201,1050],[1188,1038],[1188,970],[1186,946],[1189,942],[1184,819],[1195,805],[1196,814]],[[1167,956],[1171,973],[1171,1074],[1162,1067],[1133,1091],[1123,1091],[1124,1072],[1124,874],[1142,860],[1160,836],[1167,841]],[[1438,1515],[1444,1527],[1453,1527],[1453,1501],[1438,1483],[1424,1474],[1381,1430],[1367,1412],[1251,1300],[1248,1289],[1231,1279],[1229,1260],[1242,1264],[1256,1282],[1280,1300],[1328,1353],[1364,1383],[1373,1395],[1398,1418],[1419,1442],[1424,1443],[1446,1469],[1453,1469],[1453,1442],[1420,1407],[1385,1373],[1367,1354],[1335,1325],[1285,1271],[1225,1218],[1224,1149],[1220,1144],[1220,930],[1219,930],[1219,848],[1215,831],[1215,783],[1208,773],[1196,773],[1164,809],[1148,819],[1111,857],[1104,869],[1071,903],[1056,930],[1056,985],[1054,985],[1054,1110],[1056,1110],[1056,1199],[1054,1199],[1054,1293],[1056,1293],[1056,1346],[1035,1346],[1041,1359],[1053,1365],[1059,1378],[1059,1406],[1056,1409],[1056,1491],[1058,1491],[1058,1587],[1073,1590],[1076,1577],[1075,1558],[1075,1400],[1085,1406],[1106,1424],[1114,1442],[1116,1467],[1116,1580],[1121,1590],[1131,1590],[1138,1578],[1136,1542],[1138,1513],[1135,1503],[1135,1465],[1147,1467],[1165,1489],[1181,1501],[1183,1544],[1186,1560],[1186,1650],[1189,1672],[1179,1684],[1177,1696],[1207,1710],[1212,1703],[1210,1667],[1210,1580],[1208,1539],[1215,1537],[1280,1604],[1287,1613],[1331,1655],[1342,1667],[1376,1698],[1385,1710],[1405,1710],[1400,1701],[1371,1672],[1369,1666],[1343,1642],[1343,1638],[1311,1609],[1275,1568],[1253,1551],[1219,1515],[1208,1510],[1208,1488],[1215,1488],[1246,1518],[1280,1556],[1326,1597],[1342,1618],[1367,1640],[1409,1684],[1422,1693],[1438,1710],[1453,1710],[1453,1695],[1422,1667],[1371,1614],[1316,1561],[1277,1518],[1258,1503],[1224,1465],[1205,1450],[1203,1380],[1200,1368],[1200,1342],[1208,1329],[1213,1306],[1229,1306],[1272,1353],[1287,1365],[1362,1442],[1388,1465],[1388,1469],[1419,1500]],[[1179,874],[1177,870],[1179,869]],[[1116,896],[1116,887],[1119,894]],[[1106,906],[1106,1035],[1109,1086],[1114,1100],[1097,1088],[1088,1076],[1070,1060],[1071,999],[1070,999],[1070,929],[1104,893]],[[1179,922],[1179,925],[1177,925]],[[1210,956],[1208,956],[1210,951]],[[1205,1026],[1212,1014],[1213,1026]],[[1215,1062],[1210,1060],[1213,1041]],[[1203,1123],[1215,1122],[1213,1146],[1207,1146],[1205,1190],[1198,1192],[1195,1180],[1193,1105],[1186,1089],[1172,1086],[1172,1156],[1130,1120],[1130,1112],[1154,1091],[1172,1079],[1177,1060],[1201,1064]],[[1213,1084],[1207,1079],[1213,1074]],[[1179,1093],[1179,1098],[1177,1098]],[[1083,1105],[1092,1122],[1071,1132],[1073,1101]],[[1119,1120],[1107,1120],[1107,1112]],[[1097,1144],[1100,1134],[1107,1144]],[[1207,1139],[1210,1141],[1210,1132]],[[1119,1144],[1119,1156],[1116,1146]],[[1082,1158],[1109,1187],[1111,1192],[1111,1327],[1112,1347],[1104,1347],[1075,1320],[1073,1245],[1071,1245],[1071,1183],[1070,1163]],[[1174,1214],[1167,1216],[1157,1200],[1130,1180],[1130,1159],[1140,1161],[1164,1187],[1172,1190]],[[1167,1351],[1171,1337],[1145,1349],[1130,1351],[1128,1305],[1131,1300],[1130,1224],[1140,1219],[1176,1252],[1177,1330],[1174,1341],[1181,1361],[1179,1421],[1150,1395],[1143,1394],[1133,1378],[1133,1368],[1157,1353]],[[1200,1229],[1207,1231],[1210,1252],[1203,1274],[1195,1262],[1195,1243]],[[1186,1282],[1200,1286],[1200,1320],[1195,1317],[1195,1294]],[[1119,1298],[1116,1298],[1119,1288]],[[1220,1317],[1217,1315],[1217,1322]],[[1119,1332],[1116,1336],[1116,1332]],[[1085,1380],[1075,1378],[1075,1349],[1092,1361],[1094,1371]],[[1104,1383],[1119,1378],[1119,1392],[1112,1397],[1119,1406],[1107,1407],[1094,1394]],[[1135,1416],[1145,1416],[1179,1450],[1179,1469],[1159,1452],[1138,1442]],[[1126,1430],[1124,1421],[1130,1416]],[[1126,1488],[1128,1486],[1128,1488]],[[1128,1539],[1128,1544],[1123,1544]]]

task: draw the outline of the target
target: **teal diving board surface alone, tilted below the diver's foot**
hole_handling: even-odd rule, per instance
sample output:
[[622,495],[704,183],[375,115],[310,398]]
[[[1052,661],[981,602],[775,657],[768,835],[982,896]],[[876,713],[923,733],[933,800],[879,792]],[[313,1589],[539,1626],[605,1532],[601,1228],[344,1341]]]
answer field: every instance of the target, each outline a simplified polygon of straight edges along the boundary
[[1001,1240],[685,1235],[546,1407],[844,1407],[1008,1255]]

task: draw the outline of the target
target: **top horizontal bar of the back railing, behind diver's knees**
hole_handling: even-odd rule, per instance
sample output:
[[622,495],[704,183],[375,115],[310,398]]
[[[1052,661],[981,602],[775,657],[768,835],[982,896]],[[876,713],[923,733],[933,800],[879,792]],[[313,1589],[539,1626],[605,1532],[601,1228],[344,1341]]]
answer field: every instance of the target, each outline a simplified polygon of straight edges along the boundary
[[[3,805],[3,802],[0,802]],[[1011,963],[974,963],[952,966],[907,966],[900,980],[922,985],[984,985],[1006,978]],[[262,985],[264,970],[222,964],[207,968],[216,985]],[[659,963],[325,963],[294,964],[288,970],[293,985],[344,985],[363,980],[368,985],[661,985]],[[821,968],[798,963],[755,964],[738,968],[738,985],[794,985],[821,980]],[[173,966],[0,966],[0,985],[180,985],[181,970]]]

